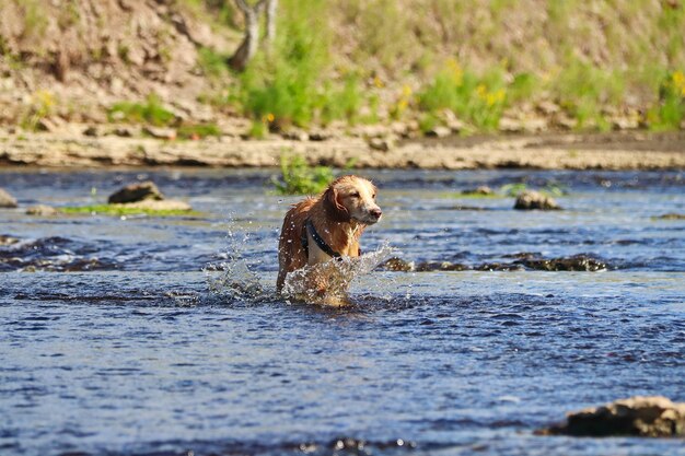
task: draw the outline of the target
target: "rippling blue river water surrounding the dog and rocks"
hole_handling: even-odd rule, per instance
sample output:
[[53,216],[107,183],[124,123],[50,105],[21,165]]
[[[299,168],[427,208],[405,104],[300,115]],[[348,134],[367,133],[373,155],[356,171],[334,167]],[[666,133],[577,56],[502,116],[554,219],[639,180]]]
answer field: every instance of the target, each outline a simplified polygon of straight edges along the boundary
[[[685,400],[685,222],[653,219],[685,212],[682,173],[364,174],[385,213],[367,252],[390,242],[471,268],[587,254],[608,268],[374,271],[349,308],[291,304],[272,290],[295,199],[269,195],[268,172],[2,172],[23,204],[89,203],[93,187],[150,177],[202,213],[0,210],[0,235],[18,239],[0,245],[0,453],[685,454],[682,440],[533,435],[620,397]],[[566,210],[454,197],[516,182],[566,188]],[[227,268],[263,293],[211,292]]]

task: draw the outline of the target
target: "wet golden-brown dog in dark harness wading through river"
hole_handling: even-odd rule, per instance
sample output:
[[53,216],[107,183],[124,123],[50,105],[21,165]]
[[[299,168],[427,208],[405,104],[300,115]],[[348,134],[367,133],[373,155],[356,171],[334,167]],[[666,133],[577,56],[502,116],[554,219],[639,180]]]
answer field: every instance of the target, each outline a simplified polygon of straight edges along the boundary
[[[375,202],[376,188],[357,176],[335,179],[317,198],[306,198],[288,211],[278,244],[278,280],[281,292],[286,277],[305,266],[339,257],[358,257],[359,237],[364,227],[381,220]],[[327,278],[320,269],[313,279],[315,292],[325,293]]]

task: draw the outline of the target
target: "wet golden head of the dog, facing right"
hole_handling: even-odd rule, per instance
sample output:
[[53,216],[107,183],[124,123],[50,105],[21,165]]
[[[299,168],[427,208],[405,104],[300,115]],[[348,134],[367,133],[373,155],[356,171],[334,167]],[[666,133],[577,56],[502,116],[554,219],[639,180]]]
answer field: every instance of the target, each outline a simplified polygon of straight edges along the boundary
[[364,178],[338,177],[323,195],[326,214],[336,222],[355,220],[372,225],[381,220],[383,214],[375,203],[376,191],[375,186]]

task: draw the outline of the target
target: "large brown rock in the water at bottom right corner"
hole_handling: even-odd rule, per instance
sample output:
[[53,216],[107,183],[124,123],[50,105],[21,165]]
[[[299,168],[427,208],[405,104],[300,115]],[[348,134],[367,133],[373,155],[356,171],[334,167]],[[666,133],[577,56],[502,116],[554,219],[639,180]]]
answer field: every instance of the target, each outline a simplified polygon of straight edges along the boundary
[[569,413],[566,423],[542,435],[671,437],[685,435],[685,402],[663,396],[635,396]]

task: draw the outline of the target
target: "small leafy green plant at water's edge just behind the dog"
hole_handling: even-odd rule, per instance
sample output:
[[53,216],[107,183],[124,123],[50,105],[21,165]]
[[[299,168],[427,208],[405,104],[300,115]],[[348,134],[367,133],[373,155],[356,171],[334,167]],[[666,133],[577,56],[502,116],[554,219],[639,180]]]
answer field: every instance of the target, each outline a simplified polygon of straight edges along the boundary
[[335,178],[329,166],[312,167],[301,155],[281,155],[280,171],[280,179],[271,179],[271,184],[280,195],[320,194]]

